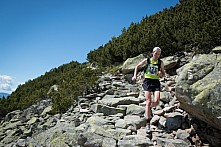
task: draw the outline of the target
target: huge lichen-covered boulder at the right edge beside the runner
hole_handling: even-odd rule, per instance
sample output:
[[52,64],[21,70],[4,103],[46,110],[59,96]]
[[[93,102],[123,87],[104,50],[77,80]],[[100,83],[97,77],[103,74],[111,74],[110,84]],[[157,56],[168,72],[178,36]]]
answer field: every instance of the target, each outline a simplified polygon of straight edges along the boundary
[[196,55],[177,70],[176,97],[191,115],[221,128],[221,55]]

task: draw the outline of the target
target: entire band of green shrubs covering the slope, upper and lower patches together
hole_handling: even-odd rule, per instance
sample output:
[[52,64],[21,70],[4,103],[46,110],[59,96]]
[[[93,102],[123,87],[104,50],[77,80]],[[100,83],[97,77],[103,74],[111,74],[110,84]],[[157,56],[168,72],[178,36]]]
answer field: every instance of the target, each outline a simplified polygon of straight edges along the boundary
[[[148,11],[148,10],[147,10]],[[221,44],[221,1],[180,0],[180,4],[145,16],[131,23],[122,34],[88,53],[88,61],[100,67],[111,66],[129,57],[148,53],[160,46],[162,56],[179,51],[209,53]],[[7,99],[0,99],[0,117],[16,109],[24,109],[45,98],[53,99],[52,113],[64,112],[83,92],[95,86],[102,69],[87,68],[87,63],[70,62],[44,75],[19,85]],[[48,93],[53,85],[58,91]]]

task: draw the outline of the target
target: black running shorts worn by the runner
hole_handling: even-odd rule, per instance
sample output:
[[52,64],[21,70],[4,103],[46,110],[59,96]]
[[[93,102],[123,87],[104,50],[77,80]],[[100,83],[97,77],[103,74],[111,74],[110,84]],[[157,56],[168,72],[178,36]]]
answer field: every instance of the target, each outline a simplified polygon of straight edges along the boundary
[[143,81],[143,89],[144,91],[160,91],[160,81],[158,79],[147,79],[145,78]]

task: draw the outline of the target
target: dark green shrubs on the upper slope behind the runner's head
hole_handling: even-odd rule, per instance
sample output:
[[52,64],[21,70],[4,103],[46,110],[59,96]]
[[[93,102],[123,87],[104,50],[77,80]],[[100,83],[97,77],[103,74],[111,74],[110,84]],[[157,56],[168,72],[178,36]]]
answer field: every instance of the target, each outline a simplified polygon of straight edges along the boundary
[[119,37],[89,52],[88,61],[103,66],[121,63],[154,46],[163,49],[162,56],[184,50],[209,53],[221,44],[220,14],[220,0],[180,0],[175,7],[132,22]]

